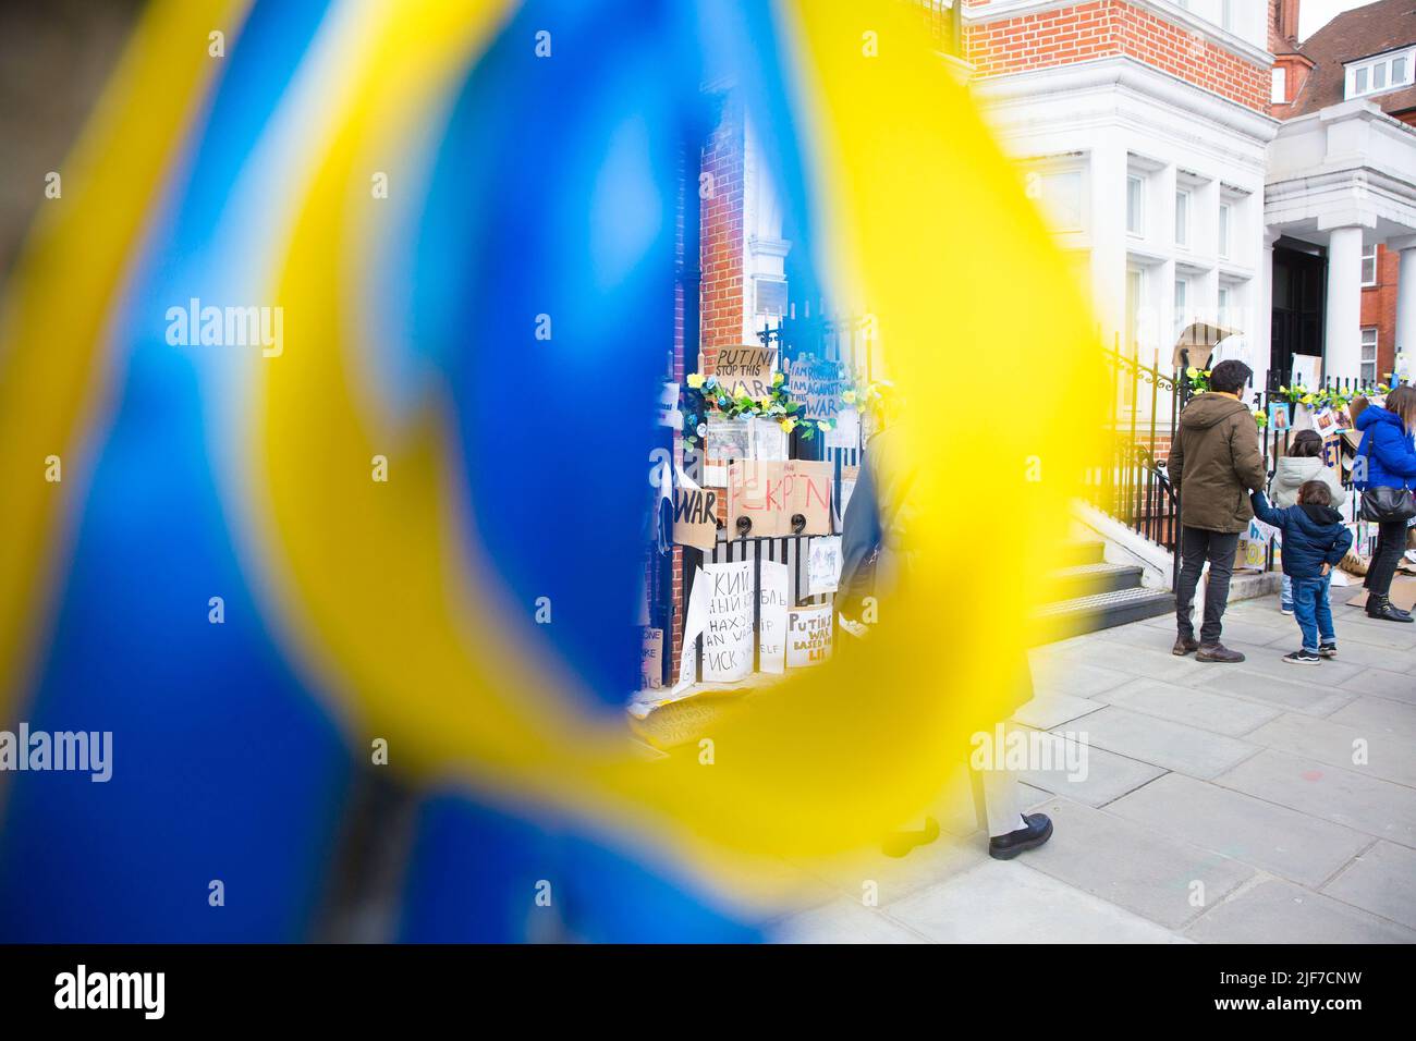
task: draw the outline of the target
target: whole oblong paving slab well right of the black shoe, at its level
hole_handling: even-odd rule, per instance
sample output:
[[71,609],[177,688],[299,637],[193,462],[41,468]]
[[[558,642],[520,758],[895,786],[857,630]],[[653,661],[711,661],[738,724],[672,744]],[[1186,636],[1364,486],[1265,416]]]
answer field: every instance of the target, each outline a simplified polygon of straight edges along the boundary
[[1181,773],[1153,780],[1106,812],[1313,888],[1372,844],[1361,831]]

